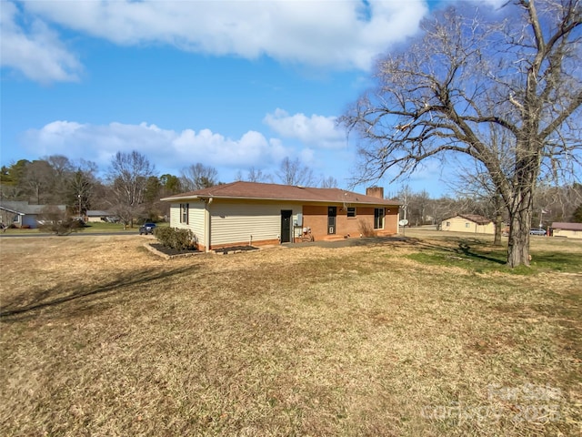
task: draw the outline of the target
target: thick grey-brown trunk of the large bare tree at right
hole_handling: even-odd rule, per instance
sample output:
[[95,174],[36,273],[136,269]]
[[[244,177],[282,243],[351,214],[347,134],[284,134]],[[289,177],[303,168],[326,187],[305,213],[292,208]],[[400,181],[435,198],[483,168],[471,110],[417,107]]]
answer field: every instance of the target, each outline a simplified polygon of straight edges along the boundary
[[507,266],[529,266],[529,229],[532,218],[532,193],[522,191],[520,199],[513,201],[509,209],[509,242],[507,244]]

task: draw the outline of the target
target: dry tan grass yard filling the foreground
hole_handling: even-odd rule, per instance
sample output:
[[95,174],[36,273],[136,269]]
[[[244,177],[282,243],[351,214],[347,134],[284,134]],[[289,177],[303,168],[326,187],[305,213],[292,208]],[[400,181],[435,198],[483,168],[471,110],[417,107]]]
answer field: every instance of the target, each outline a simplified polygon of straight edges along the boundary
[[2,435],[580,435],[582,242],[0,239]]

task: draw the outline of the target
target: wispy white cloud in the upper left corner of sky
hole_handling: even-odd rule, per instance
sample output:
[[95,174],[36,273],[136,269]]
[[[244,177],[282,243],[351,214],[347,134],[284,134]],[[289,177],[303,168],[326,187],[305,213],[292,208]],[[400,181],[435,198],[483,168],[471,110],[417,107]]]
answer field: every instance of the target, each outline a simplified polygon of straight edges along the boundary
[[9,2],[0,5],[0,66],[20,70],[41,83],[75,81],[82,66],[44,22],[33,19],[30,25],[16,23],[21,15]]

